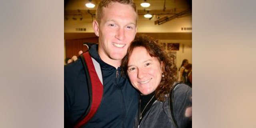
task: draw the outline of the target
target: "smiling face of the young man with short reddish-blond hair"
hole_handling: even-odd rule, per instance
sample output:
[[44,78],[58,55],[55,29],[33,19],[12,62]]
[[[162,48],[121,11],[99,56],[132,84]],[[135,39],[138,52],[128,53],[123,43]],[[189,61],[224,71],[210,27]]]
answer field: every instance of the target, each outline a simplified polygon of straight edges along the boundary
[[[130,5],[112,3],[102,8],[100,24],[94,21],[94,32],[99,36],[98,52],[105,62],[121,61],[134,40],[137,14]],[[98,25],[98,27],[97,27]]]

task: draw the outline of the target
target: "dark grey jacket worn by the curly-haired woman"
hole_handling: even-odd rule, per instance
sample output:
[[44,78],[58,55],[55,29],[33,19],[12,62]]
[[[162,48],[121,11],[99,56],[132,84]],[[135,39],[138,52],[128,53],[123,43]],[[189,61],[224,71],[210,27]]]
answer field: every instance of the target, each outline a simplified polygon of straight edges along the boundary
[[[173,112],[178,128],[192,128],[192,117],[186,117],[186,109],[192,107],[192,88],[178,84],[174,88]],[[192,109],[192,108],[191,108]],[[139,114],[135,118],[134,128],[138,128]],[[172,123],[169,97],[166,101],[156,100],[140,122],[140,128],[175,128]]]

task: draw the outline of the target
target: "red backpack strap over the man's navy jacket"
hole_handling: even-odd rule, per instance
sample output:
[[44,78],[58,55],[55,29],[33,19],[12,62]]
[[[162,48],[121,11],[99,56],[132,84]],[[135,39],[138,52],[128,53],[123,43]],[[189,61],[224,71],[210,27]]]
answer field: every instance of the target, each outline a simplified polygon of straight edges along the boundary
[[103,85],[100,82],[100,79],[98,78],[89,52],[83,53],[81,55],[81,60],[84,65],[86,76],[89,76],[86,78],[88,81],[90,102],[89,107],[84,114],[86,116],[76,124],[75,128],[80,128],[94,116],[94,114],[98,110],[98,107],[100,106],[100,102],[102,100],[103,95]]

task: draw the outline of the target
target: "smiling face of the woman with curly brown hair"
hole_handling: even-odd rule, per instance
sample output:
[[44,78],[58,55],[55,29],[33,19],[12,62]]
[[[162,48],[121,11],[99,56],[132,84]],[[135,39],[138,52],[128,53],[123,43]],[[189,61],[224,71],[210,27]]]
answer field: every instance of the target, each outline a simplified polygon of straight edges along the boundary
[[133,49],[128,62],[128,76],[132,86],[143,95],[148,95],[160,84],[162,78],[162,64],[156,57],[151,57],[146,48]]

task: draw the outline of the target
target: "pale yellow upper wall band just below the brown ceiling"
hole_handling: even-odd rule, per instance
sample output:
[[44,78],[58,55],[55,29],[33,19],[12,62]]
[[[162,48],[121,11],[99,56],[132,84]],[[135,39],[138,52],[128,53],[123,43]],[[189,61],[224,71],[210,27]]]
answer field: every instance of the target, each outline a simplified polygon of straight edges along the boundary
[[[175,18],[161,25],[154,25],[154,21],[157,18],[151,20],[139,17],[138,32],[192,32],[192,30],[181,30],[183,27],[192,27],[192,16],[186,16],[183,18]],[[76,28],[86,28],[84,33],[93,32],[92,19],[83,20],[64,20],[64,32],[78,32]]]

